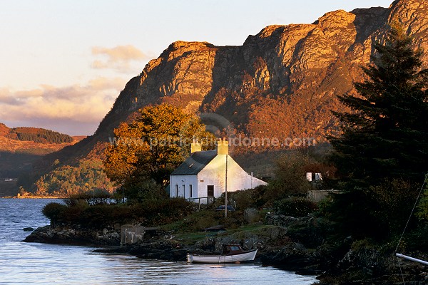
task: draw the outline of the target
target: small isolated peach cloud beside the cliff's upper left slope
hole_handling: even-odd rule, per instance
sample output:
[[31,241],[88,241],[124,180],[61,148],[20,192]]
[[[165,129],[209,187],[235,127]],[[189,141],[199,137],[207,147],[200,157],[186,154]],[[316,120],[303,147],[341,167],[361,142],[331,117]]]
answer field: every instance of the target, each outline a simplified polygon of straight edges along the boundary
[[92,55],[103,58],[94,60],[91,64],[92,68],[114,69],[121,73],[133,71],[131,63],[141,62],[149,58],[148,55],[131,45],[116,46],[114,48],[94,46],[92,48]]

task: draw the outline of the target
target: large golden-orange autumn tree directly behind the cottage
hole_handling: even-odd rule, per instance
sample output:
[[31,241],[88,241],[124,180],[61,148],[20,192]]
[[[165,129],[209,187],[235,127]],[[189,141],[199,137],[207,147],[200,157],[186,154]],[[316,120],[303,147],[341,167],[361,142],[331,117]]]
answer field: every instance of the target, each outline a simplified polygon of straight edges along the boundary
[[195,115],[171,105],[148,106],[139,110],[133,123],[122,123],[106,149],[104,167],[108,177],[128,193],[168,184],[170,172],[190,152],[190,142],[200,140],[205,147],[213,135]]

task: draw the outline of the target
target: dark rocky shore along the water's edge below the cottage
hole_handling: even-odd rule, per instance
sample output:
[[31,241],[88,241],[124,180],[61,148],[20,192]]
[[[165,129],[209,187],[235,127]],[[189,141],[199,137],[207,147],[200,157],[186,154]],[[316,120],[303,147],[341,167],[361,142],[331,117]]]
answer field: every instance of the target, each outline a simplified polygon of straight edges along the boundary
[[[222,244],[241,244],[246,249],[257,248],[256,261],[261,264],[317,275],[319,284],[402,284],[398,261],[391,254],[384,254],[381,249],[364,242],[356,245],[352,237],[339,245],[320,240],[328,228],[329,222],[325,219],[268,215],[266,221],[268,224],[255,224],[252,230],[207,233],[193,243],[176,236],[173,231],[158,231],[136,244],[121,246],[118,229],[50,226],[36,229],[24,242],[91,245],[101,247],[98,252],[128,253],[143,259],[170,261],[185,261],[188,252],[210,254],[220,252]],[[424,266],[400,262],[406,284],[428,283]]]

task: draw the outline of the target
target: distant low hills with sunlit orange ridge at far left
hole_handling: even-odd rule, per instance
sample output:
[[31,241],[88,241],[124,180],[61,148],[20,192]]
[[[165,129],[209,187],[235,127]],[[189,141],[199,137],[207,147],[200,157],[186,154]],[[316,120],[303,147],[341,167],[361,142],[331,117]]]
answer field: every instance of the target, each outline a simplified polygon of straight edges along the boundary
[[0,123],[0,197],[16,195],[18,178],[20,185],[31,184],[34,162],[43,155],[73,145],[83,138],[86,137],[71,137],[42,128],[8,128]]

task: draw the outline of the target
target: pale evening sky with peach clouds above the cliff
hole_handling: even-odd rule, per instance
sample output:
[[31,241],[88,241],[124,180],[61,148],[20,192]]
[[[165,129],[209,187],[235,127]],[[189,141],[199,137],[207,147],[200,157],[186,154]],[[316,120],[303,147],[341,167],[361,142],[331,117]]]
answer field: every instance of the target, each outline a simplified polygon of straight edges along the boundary
[[0,0],[0,123],[92,135],[126,82],[174,41],[242,45],[272,24],[392,0]]

